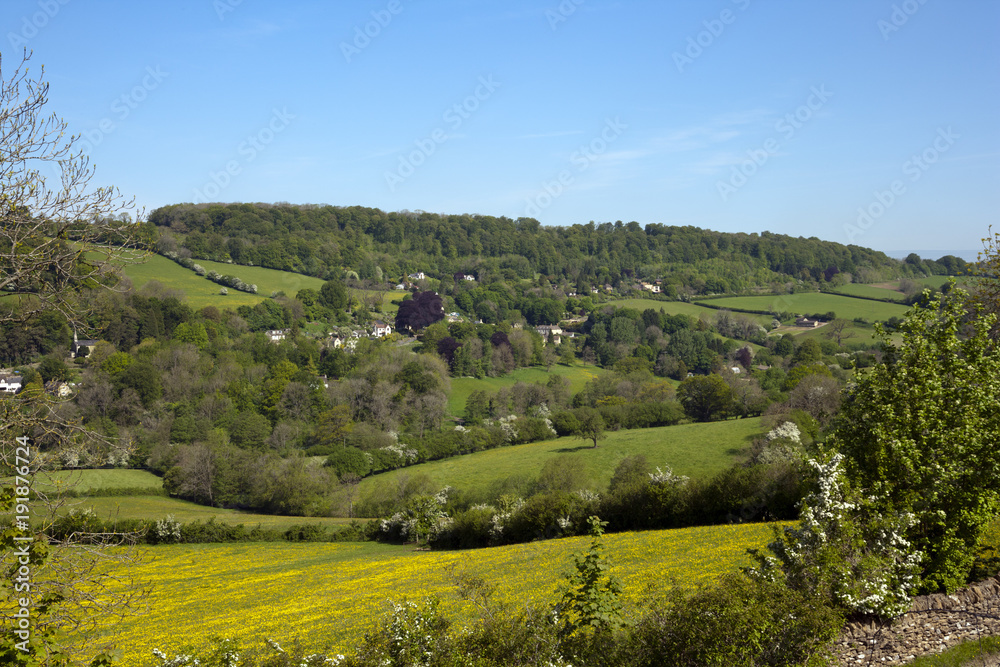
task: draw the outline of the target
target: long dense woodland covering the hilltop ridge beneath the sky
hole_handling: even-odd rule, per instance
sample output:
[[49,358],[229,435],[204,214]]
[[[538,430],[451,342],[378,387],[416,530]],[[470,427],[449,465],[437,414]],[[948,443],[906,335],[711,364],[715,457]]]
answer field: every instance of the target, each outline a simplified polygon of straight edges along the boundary
[[899,262],[881,252],[816,238],[721,233],[636,222],[543,227],[533,218],[385,212],[360,206],[175,204],[152,212],[162,252],[296,271],[321,278],[343,271],[398,280],[414,271],[566,280],[591,285],[664,278],[665,291],[711,294],[789,279],[858,282],[949,273],[956,258]]

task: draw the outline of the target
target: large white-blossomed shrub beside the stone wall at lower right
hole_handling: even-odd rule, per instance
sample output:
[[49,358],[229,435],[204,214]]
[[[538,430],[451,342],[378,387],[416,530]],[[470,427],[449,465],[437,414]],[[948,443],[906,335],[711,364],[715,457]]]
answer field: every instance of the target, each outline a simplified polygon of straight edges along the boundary
[[810,460],[819,490],[802,501],[797,526],[775,529],[768,545],[773,556],[752,549],[757,567],[747,570],[769,580],[784,577],[795,590],[826,599],[849,613],[893,618],[907,611],[919,583],[922,554],[903,537],[912,514],[883,515],[848,483],[835,455]]

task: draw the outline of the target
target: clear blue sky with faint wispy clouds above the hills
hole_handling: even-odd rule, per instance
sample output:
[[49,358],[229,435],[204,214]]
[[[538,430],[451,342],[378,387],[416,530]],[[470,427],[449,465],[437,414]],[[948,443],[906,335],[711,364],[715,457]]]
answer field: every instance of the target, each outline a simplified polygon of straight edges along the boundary
[[147,209],[287,201],[969,254],[1000,3],[5,0],[7,75]]

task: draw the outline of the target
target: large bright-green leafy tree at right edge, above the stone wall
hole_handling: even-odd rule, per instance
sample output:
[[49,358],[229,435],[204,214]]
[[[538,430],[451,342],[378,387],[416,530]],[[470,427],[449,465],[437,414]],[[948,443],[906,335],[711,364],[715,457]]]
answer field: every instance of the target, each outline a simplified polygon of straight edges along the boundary
[[922,590],[965,583],[1000,508],[1000,347],[996,315],[953,289],[928,296],[894,346],[845,398],[832,444],[852,481],[886,512],[912,512]]

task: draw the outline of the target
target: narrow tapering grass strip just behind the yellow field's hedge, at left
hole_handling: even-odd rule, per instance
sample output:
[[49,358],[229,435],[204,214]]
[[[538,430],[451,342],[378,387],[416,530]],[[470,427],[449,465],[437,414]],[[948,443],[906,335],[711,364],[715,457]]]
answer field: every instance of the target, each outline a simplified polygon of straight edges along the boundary
[[242,523],[247,527],[260,524],[263,528],[289,528],[302,524],[319,524],[334,526],[350,523],[350,519],[332,517],[276,516],[272,514],[252,514],[237,510],[220,509],[198,505],[179,498],[165,496],[111,496],[101,498],[80,498],[66,505],[70,508],[82,509],[90,507],[102,519],[164,519],[172,514],[181,523],[192,521],[208,521],[215,519],[219,523],[236,525]]

